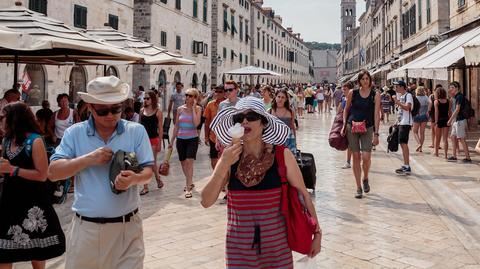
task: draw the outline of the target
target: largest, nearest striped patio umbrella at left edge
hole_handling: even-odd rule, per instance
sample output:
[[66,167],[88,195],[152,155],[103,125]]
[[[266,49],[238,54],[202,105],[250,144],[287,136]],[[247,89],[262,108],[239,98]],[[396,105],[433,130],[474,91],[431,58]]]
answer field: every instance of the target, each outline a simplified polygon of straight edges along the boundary
[[0,9],[0,27],[0,62],[15,63],[14,87],[18,81],[18,63],[143,62],[138,54],[94,39],[63,22],[20,6]]

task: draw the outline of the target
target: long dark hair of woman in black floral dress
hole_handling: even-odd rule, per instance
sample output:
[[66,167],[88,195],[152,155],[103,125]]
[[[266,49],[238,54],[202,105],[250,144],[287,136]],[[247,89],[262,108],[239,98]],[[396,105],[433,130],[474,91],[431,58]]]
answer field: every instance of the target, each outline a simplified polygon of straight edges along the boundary
[[23,145],[28,133],[41,134],[40,126],[32,110],[25,103],[15,102],[3,108],[5,113],[5,137],[15,139],[17,146]]

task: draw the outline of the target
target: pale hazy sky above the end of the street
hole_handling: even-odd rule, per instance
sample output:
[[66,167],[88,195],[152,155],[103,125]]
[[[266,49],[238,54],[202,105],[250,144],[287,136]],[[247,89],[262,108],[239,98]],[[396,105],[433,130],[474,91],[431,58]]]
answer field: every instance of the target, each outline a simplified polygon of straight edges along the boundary
[[[305,41],[340,43],[340,0],[264,0],[264,6]],[[357,0],[357,20],[364,11],[365,1]]]

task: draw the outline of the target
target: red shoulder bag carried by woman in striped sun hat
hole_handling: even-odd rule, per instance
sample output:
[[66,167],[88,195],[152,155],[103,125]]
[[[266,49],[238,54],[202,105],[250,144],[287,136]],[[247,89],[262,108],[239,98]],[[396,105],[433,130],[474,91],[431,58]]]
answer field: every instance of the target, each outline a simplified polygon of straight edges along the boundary
[[282,180],[280,210],[285,217],[288,246],[295,252],[307,255],[312,248],[317,221],[310,215],[305,205],[300,201],[299,195],[301,194],[298,193],[297,188],[288,184],[284,151],[284,146],[275,147],[278,173]]

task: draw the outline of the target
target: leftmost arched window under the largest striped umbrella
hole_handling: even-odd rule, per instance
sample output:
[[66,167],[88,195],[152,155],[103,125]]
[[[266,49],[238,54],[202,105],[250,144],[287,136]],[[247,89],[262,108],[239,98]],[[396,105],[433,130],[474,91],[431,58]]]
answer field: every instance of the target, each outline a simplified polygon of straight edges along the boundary
[[[30,106],[40,106],[42,101],[45,99],[45,71],[42,65],[39,64],[27,64],[24,71],[27,76],[24,76],[24,85],[25,89],[22,90],[24,93],[24,99]],[[27,84],[27,78],[30,80],[30,83]],[[28,86],[28,88],[27,88]]]

